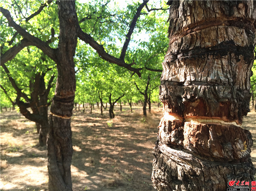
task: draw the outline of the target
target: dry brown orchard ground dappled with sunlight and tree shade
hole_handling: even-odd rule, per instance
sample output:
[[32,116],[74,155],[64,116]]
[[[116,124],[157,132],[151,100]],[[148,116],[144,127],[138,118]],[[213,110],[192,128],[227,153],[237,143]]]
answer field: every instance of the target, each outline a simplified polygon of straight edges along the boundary
[[[95,106],[94,106],[95,107]],[[109,119],[95,107],[74,111],[71,121],[74,191],[153,191],[152,150],[162,108],[153,104],[146,118],[142,106],[115,106]],[[81,108],[80,108],[81,109]],[[252,110],[252,108],[251,108]],[[248,113],[242,125],[253,135],[252,162],[256,167],[256,113]],[[38,146],[35,123],[15,111],[1,114],[1,183],[5,191],[46,191],[48,186],[46,147]]]

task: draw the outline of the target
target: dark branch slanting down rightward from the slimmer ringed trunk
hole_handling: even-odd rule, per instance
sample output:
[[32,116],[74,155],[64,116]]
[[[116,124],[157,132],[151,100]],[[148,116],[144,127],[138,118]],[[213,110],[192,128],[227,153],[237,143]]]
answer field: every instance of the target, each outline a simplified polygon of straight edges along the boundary
[[118,66],[124,67],[131,72],[135,72],[139,77],[141,77],[140,71],[142,70],[142,68],[132,68],[130,65],[126,64],[124,60],[115,58],[110,54],[106,53],[102,45],[98,44],[89,34],[83,32],[80,26],[78,27],[78,37],[85,43],[89,44],[93,49],[95,49],[102,59],[110,63],[117,64]]

